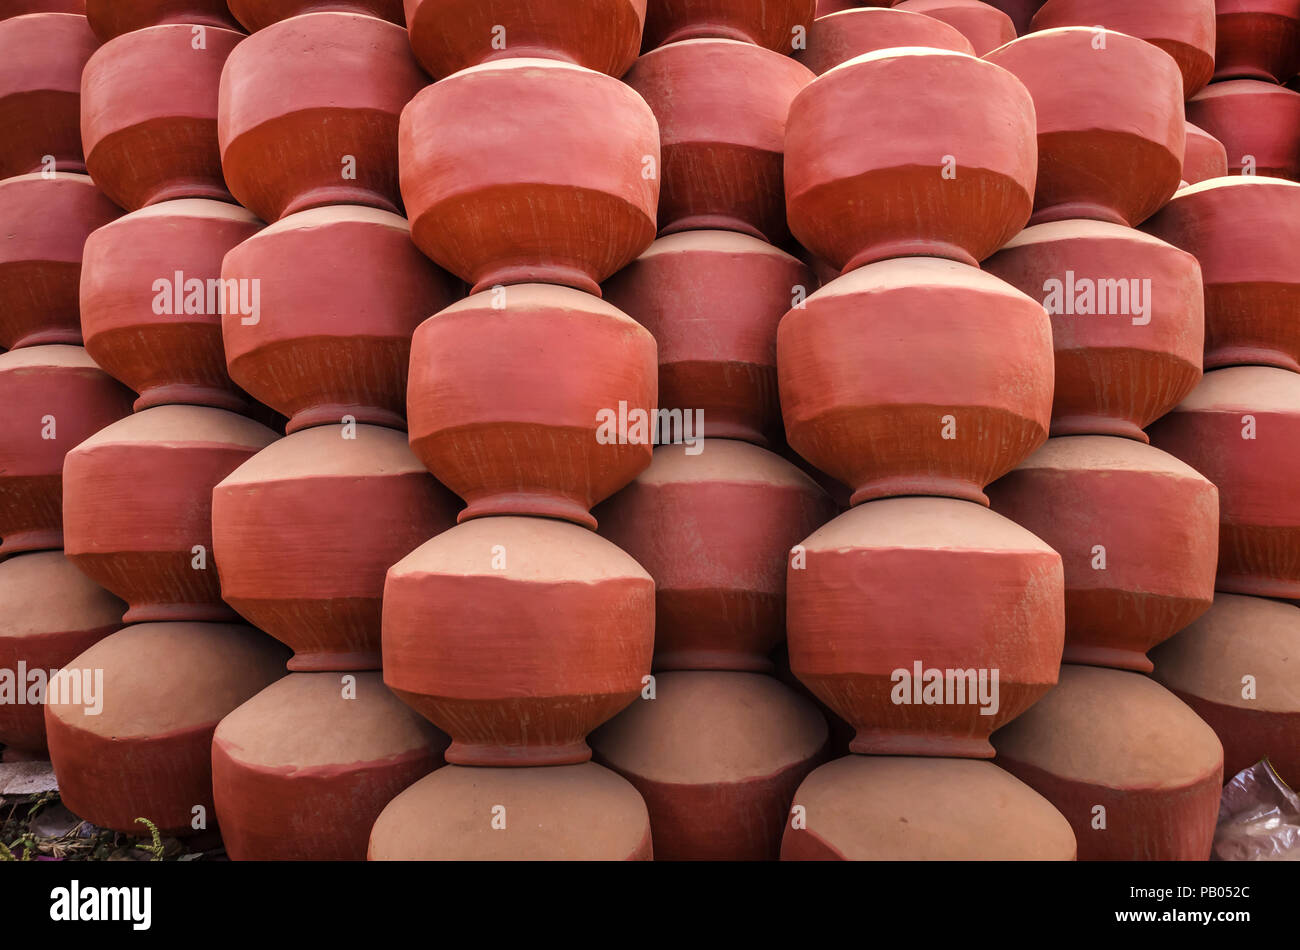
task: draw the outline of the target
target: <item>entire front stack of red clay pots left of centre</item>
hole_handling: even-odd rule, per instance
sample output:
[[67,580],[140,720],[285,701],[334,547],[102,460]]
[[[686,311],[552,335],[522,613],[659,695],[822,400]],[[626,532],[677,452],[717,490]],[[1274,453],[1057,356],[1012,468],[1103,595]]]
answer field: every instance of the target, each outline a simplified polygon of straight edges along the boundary
[[406,386],[411,451],[467,507],[389,569],[382,610],[384,682],[448,764],[378,815],[368,856],[644,860],[645,801],[586,743],[653,689],[654,581],[590,513],[651,457],[654,337],[599,290],[655,234],[659,126],[614,78],[644,4],[585,4],[602,17],[578,32],[504,4],[502,48],[488,19],[452,48],[439,21],[473,6],[407,3],[439,82],[398,139],[411,238],[472,287],[425,315]]

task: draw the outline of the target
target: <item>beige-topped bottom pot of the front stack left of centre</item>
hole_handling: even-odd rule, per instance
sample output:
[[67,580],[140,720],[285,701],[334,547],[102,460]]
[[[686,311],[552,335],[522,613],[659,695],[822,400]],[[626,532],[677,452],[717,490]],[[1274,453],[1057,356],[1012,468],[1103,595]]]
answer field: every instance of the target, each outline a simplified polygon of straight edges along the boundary
[[370,832],[369,860],[650,860],[637,790],[594,763],[421,778]]

